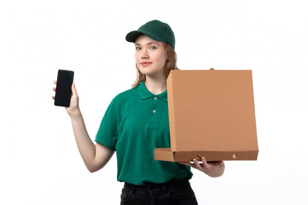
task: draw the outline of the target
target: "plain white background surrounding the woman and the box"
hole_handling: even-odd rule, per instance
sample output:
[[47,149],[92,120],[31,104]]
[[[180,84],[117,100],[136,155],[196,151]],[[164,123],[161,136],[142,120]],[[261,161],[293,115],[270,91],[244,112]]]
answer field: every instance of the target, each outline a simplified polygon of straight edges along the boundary
[[87,171],[53,81],[75,71],[94,140],[111,99],[135,80],[124,37],[153,19],[174,30],[181,69],[252,70],[258,160],[226,161],[219,178],[192,170],[199,204],[307,205],[304,0],[1,1],[0,204],[120,204],[116,155]]

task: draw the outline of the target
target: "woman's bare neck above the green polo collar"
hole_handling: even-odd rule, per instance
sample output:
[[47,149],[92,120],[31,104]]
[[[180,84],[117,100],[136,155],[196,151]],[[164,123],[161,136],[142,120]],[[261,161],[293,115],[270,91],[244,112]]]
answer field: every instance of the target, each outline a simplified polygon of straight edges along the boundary
[[153,76],[146,76],[145,86],[154,95],[160,94],[167,89],[166,78],[154,78]]

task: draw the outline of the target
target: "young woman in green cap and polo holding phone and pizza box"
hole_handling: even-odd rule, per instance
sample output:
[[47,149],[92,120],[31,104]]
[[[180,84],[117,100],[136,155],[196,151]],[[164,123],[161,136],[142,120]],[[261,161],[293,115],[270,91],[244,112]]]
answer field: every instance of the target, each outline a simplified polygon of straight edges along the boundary
[[168,24],[154,20],[129,32],[126,40],[135,45],[137,79],[133,88],[111,101],[95,144],[72,85],[66,111],[80,154],[89,171],[96,172],[117,152],[117,179],[125,182],[121,205],[197,205],[188,181],[192,177],[190,167],[217,177],[223,174],[224,163],[208,163],[204,157],[202,164],[196,159],[193,163],[156,161],[153,155],[156,147],[170,147],[166,79],[170,70],[178,69],[174,33]]

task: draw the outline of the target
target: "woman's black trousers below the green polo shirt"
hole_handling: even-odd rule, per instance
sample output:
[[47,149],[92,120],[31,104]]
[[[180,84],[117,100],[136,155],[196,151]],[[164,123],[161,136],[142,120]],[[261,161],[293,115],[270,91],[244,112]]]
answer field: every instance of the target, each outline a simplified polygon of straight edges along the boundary
[[121,205],[198,205],[186,178],[162,184],[132,185],[124,183]]

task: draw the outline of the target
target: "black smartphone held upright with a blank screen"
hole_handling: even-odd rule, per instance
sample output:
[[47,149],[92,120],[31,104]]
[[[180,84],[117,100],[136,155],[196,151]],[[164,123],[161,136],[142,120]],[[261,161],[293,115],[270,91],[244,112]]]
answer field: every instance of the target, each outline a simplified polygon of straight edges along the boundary
[[58,70],[55,105],[69,107],[73,80],[74,71]]

